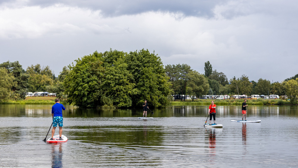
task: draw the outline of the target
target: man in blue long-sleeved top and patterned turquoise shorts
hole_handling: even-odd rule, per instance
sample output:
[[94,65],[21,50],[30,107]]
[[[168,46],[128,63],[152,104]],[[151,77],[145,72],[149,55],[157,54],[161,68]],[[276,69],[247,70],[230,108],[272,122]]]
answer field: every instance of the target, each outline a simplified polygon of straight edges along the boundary
[[52,106],[53,129],[52,129],[52,138],[50,138],[50,140],[53,140],[53,136],[55,134],[55,129],[57,125],[59,126],[59,140],[63,140],[61,138],[62,127],[63,127],[62,110],[65,110],[65,108],[63,104],[60,104],[59,98],[56,98],[55,102],[56,103]]

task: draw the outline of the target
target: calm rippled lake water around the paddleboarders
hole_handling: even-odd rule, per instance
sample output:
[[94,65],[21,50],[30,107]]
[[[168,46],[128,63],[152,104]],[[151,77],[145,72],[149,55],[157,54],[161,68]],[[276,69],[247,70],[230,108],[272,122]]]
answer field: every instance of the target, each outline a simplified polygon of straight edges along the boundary
[[249,106],[247,120],[261,123],[231,122],[241,107],[217,106],[223,128],[203,127],[207,106],[154,109],[151,120],[65,106],[69,140],[46,144],[51,107],[0,105],[0,167],[298,167],[297,106]]

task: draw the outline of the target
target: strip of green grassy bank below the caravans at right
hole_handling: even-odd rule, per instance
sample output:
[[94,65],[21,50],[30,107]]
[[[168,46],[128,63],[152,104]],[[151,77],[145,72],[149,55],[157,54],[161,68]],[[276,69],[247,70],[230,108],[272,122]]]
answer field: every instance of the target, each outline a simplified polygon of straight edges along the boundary
[[[211,101],[214,101],[216,105],[241,105],[244,99],[197,99],[197,100],[177,100],[171,101],[171,105],[210,105]],[[290,101],[282,99],[248,99],[246,104],[248,105],[292,105]]]

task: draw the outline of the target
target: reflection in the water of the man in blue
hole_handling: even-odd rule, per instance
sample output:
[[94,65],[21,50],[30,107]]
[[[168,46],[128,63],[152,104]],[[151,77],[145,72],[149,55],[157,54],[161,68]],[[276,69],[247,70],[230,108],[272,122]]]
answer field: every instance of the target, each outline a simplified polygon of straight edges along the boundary
[[62,164],[62,144],[51,144],[52,145],[52,168],[63,167]]

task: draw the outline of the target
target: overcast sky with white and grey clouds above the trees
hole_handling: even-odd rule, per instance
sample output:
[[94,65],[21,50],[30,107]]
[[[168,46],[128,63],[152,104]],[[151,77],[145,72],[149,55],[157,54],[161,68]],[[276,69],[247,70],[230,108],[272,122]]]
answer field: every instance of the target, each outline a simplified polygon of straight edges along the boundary
[[296,0],[1,0],[0,63],[58,76],[96,50],[145,48],[164,66],[281,82],[298,73],[297,16]]

